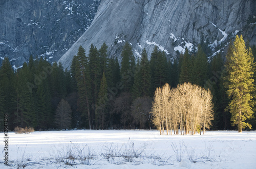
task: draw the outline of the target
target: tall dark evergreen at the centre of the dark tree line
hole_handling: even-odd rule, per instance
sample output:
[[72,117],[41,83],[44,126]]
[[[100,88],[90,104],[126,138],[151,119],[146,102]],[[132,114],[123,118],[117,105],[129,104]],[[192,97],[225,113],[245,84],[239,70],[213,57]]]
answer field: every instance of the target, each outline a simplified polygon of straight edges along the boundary
[[134,81],[135,57],[133,55],[132,46],[126,42],[121,53],[121,81],[123,83],[123,91],[129,92],[132,89]]

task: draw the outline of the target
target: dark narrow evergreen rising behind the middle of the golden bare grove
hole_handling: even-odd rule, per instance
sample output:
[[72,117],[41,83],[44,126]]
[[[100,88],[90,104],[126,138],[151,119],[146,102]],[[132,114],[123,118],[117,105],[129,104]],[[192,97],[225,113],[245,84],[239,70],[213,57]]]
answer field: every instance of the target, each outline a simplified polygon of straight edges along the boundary
[[191,82],[191,76],[192,76],[191,67],[192,67],[191,58],[188,53],[188,49],[186,48],[185,53],[182,56],[180,77],[179,77],[180,84],[184,82]]

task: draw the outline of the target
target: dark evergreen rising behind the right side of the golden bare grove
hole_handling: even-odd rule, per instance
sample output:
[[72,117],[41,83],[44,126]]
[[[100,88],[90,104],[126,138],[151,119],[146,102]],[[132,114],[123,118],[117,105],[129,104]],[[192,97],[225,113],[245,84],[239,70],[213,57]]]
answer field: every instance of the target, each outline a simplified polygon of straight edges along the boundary
[[194,60],[193,68],[193,83],[201,87],[204,86],[208,76],[208,61],[206,55],[201,47],[198,45],[198,52]]

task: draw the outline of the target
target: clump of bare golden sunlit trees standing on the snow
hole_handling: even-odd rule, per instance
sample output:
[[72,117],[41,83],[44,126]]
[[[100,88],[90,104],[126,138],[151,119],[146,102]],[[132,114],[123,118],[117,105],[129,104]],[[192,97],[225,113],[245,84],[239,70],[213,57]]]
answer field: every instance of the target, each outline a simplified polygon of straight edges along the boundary
[[170,89],[168,83],[157,88],[151,114],[153,124],[160,134],[205,133],[214,119],[212,95],[197,85],[185,82],[177,88]]

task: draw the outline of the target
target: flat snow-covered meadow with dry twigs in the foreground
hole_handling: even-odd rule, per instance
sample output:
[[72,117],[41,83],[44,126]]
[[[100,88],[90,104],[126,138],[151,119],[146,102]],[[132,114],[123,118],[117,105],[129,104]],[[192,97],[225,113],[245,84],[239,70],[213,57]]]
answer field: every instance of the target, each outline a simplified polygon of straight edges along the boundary
[[256,168],[256,131],[72,130],[8,136],[11,166],[4,165],[3,150],[0,168]]

